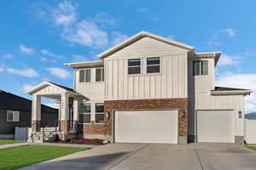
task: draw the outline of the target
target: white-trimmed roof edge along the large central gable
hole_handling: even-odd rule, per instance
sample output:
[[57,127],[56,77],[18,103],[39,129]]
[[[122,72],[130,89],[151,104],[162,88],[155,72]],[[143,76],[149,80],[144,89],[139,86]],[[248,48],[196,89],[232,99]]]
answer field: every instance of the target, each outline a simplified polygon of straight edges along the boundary
[[142,37],[151,37],[155,40],[158,40],[160,42],[166,42],[169,43],[170,45],[176,46],[178,48],[184,48],[186,50],[189,51],[193,51],[194,47],[189,46],[187,44],[181,43],[181,42],[176,42],[170,39],[167,39],[165,37],[160,37],[151,33],[148,33],[146,31],[141,31],[139,33],[137,33],[136,35],[128,38],[127,40],[125,40],[124,42],[120,42],[119,44],[117,44],[116,46],[114,46],[113,48],[109,48],[107,51],[103,52],[102,54],[98,54],[96,56],[98,56],[100,59],[113,54],[114,52],[118,51],[120,48],[124,48],[125,46],[131,44],[132,42],[136,42],[138,39],[142,38]]

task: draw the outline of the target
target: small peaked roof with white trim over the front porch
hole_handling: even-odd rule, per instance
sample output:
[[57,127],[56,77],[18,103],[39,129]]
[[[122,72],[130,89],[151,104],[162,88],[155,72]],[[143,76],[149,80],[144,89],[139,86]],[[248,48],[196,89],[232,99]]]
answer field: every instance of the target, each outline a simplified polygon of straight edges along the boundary
[[[67,88],[67,87],[65,87],[65,86],[62,86],[62,85],[60,85],[60,84],[56,84],[56,83],[53,83],[53,82],[42,82],[42,83],[38,84],[38,86],[35,86],[35,87],[33,87],[32,89],[27,90],[27,91],[26,91],[26,94],[32,95],[32,94],[34,94],[35,92],[37,92],[38,90],[40,90],[40,89],[42,89],[42,88],[45,88],[45,87],[47,87],[47,86],[55,86],[55,87],[57,87],[57,88],[65,89],[65,90],[67,90],[67,91],[68,91],[69,93],[71,93],[71,94],[78,94],[78,93],[76,93],[72,88]],[[78,94],[78,95],[80,95],[80,94]]]

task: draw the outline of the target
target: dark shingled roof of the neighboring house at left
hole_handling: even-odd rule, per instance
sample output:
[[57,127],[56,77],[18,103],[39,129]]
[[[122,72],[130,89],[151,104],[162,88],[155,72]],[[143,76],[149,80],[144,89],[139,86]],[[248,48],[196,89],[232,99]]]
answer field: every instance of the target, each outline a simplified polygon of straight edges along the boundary
[[[31,111],[32,101],[15,94],[0,90],[0,109],[14,111]],[[42,112],[57,113],[58,110],[47,105],[41,105]]]

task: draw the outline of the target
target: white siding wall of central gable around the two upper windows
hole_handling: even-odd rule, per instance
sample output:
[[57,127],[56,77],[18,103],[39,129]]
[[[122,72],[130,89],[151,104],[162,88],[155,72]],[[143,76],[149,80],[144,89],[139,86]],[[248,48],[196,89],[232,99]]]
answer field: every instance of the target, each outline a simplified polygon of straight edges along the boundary
[[[147,74],[147,58],[160,57],[160,73]],[[141,74],[128,75],[128,59],[141,59]],[[187,51],[143,37],[104,59],[105,99],[188,97]]]

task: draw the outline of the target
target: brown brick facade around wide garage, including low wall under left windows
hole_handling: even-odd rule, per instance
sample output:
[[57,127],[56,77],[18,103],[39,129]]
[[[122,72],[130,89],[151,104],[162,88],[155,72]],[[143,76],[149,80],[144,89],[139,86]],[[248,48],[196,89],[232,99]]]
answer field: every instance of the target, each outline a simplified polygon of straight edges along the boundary
[[[135,111],[148,109],[177,109],[178,136],[188,136],[188,99],[131,99],[105,101],[104,124],[83,125],[83,133],[112,135],[112,111]],[[184,114],[183,114],[184,112]],[[108,116],[107,116],[108,115]]]

